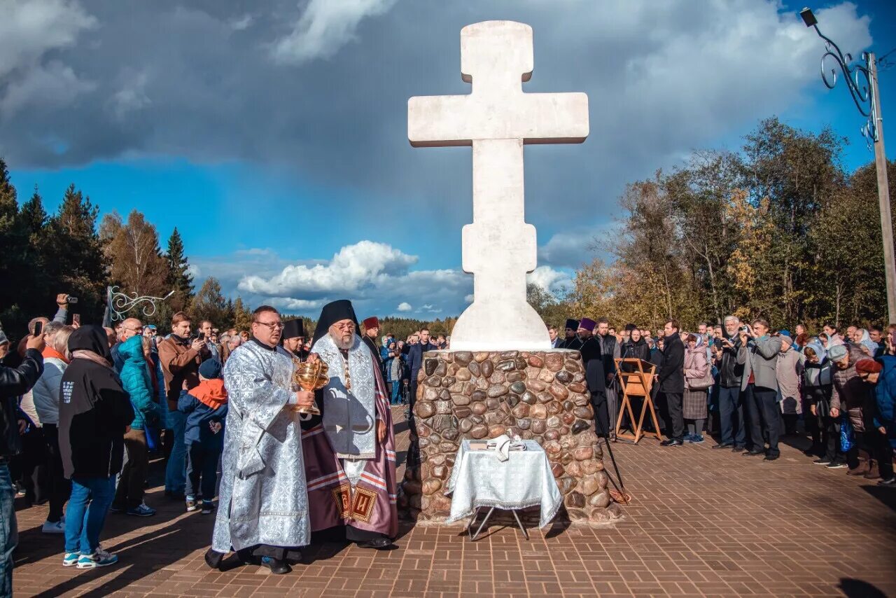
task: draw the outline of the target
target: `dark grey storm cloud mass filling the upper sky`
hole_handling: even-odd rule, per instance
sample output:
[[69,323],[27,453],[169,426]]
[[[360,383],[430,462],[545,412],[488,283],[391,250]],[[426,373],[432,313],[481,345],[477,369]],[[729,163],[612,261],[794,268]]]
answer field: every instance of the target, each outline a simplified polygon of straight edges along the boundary
[[[407,100],[469,92],[462,26],[529,22],[526,91],[590,95],[584,145],[526,150],[527,219],[555,227],[606,220],[625,182],[788,108],[817,83],[817,39],[757,0],[13,4],[46,16],[43,28],[22,30],[13,10],[0,24],[0,155],[14,168],[245,160],[394,206],[416,198],[467,212],[469,149],[412,150]],[[870,41],[852,4],[825,19],[845,48]]]

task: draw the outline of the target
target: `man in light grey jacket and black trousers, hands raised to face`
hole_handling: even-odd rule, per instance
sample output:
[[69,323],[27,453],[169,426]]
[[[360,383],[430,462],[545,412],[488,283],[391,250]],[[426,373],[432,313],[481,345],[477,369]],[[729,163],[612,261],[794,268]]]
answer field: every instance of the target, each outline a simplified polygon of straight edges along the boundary
[[[744,455],[765,455],[765,461],[780,457],[778,437],[781,412],[778,407],[778,352],[779,336],[769,334],[769,323],[755,320],[747,332],[741,330],[740,343],[746,351],[739,351],[737,362],[744,364],[741,390],[746,391],[745,403],[750,430],[750,449]],[[769,448],[765,449],[765,438]]]

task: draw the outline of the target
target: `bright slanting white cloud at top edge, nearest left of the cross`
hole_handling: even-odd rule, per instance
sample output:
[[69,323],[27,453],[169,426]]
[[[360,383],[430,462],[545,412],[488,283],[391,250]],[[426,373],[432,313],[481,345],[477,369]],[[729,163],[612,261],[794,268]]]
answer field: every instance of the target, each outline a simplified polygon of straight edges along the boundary
[[358,24],[386,13],[396,0],[311,0],[288,35],[271,49],[275,61],[301,64],[327,58],[355,38]]

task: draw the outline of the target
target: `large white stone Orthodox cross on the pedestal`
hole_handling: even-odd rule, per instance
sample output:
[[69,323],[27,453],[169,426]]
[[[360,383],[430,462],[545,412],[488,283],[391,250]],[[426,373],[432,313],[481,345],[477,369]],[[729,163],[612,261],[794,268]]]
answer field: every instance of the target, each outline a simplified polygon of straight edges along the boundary
[[408,100],[414,147],[473,146],[473,223],[463,227],[463,270],[473,303],[452,331],[452,351],[550,348],[544,322],[526,302],[535,269],[535,227],[524,220],[524,143],[582,143],[584,93],[523,93],[532,76],[532,28],[487,21],[461,30],[461,76],[470,95]]

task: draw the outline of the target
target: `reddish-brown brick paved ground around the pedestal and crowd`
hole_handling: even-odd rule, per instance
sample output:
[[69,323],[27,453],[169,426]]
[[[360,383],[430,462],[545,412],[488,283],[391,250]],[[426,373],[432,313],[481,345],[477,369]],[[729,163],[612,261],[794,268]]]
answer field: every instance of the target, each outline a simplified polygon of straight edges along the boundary
[[47,509],[32,507],[18,513],[16,594],[896,596],[896,491],[797,448],[766,464],[709,444],[616,445],[635,500],[614,528],[531,530],[526,542],[495,526],[470,543],[460,527],[405,526],[399,550],[324,542],[286,576],[211,571],[211,516],[185,514],[160,488],[146,498],[158,516],[109,516],[103,544],[121,562],[92,571],[62,567],[62,538],[40,533]]

